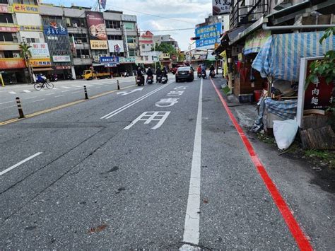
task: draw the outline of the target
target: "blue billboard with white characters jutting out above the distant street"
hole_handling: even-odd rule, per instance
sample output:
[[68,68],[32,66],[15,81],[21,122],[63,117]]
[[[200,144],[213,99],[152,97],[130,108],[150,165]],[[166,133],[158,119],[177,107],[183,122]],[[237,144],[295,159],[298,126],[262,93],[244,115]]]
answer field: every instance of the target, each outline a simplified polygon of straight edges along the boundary
[[196,40],[196,48],[199,47],[213,47],[216,43],[220,42],[220,35],[222,33],[222,24],[213,23],[212,25],[206,25],[195,29],[196,37],[200,37]]

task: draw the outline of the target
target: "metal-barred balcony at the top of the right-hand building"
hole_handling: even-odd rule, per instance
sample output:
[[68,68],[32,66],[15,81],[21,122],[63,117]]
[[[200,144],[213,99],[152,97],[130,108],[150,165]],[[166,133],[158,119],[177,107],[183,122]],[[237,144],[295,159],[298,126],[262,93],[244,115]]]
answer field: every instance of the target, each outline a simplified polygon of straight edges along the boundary
[[240,25],[254,23],[264,14],[268,14],[268,0],[235,0],[230,4],[230,29]]

